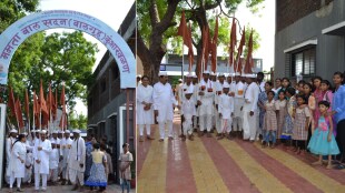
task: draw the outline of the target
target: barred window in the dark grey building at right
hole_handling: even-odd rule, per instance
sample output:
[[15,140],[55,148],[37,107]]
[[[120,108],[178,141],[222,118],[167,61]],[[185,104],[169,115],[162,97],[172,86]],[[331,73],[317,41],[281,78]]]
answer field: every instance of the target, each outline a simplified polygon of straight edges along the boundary
[[315,47],[293,53],[292,77],[296,77],[298,74],[314,75],[315,58],[316,58],[315,53],[316,53]]

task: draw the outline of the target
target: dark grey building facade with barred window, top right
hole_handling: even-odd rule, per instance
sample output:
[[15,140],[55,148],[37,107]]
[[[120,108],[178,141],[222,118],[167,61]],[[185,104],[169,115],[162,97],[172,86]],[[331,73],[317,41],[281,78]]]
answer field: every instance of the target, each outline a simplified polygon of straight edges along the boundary
[[344,0],[276,0],[275,77],[332,80],[345,70],[344,37]]

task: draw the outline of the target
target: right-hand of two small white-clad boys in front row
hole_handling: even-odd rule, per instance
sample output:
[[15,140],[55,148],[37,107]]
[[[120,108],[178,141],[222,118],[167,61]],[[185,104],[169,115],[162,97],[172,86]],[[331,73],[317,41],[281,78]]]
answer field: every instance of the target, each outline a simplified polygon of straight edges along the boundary
[[217,140],[221,140],[224,136],[230,140],[231,122],[234,116],[234,98],[229,95],[229,84],[223,85],[223,94],[218,101],[218,112],[221,119],[221,126],[219,128],[219,136]]

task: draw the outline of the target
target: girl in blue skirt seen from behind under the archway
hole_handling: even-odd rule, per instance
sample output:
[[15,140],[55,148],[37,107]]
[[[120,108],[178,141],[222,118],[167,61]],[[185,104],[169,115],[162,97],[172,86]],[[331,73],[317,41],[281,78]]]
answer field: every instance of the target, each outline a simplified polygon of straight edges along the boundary
[[91,190],[95,186],[99,186],[99,191],[103,192],[107,186],[107,176],[106,176],[106,166],[107,156],[103,152],[99,150],[99,143],[93,144],[92,155],[92,165],[90,169],[90,176],[85,182],[85,185],[90,186]]

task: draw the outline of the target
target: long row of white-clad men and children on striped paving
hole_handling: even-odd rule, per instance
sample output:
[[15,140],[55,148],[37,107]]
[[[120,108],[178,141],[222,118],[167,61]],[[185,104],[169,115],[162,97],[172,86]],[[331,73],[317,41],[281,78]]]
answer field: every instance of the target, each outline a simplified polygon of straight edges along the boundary
[[[265,82],[264,73],[226,75],[204,71],[199,80],[194,73],[185,77],[174,94],[167,72],[159,72],[159,81],[149,85],[149,78],[138,78],[137,124],[139,141],[154,140],[150,126],[158,122],[164,141],[165,126],[172,140],[174,110],[181,114],[181,139],[211,138],[217,140],[234,136],[246,141],[260,141],[263,148],[284,144],[296,154],[306,151],[319,155],[314,164],[332,155],[339,163],[345,161],[345,85],[344,73],[335,72],[333,83],[314,77],[299,80],[294,85],[288,78]],[[288,146],[288,148],[286,148]],[[339,164],[344,167],[344,164]]]

